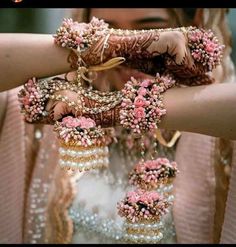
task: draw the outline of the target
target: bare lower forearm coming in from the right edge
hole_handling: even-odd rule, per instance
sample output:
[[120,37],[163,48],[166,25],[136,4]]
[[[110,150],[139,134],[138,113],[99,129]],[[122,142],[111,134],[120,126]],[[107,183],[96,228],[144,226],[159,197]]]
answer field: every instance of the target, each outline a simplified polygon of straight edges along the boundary
[[235,92],[234,83],[169,89],[160,127],[236,140]]

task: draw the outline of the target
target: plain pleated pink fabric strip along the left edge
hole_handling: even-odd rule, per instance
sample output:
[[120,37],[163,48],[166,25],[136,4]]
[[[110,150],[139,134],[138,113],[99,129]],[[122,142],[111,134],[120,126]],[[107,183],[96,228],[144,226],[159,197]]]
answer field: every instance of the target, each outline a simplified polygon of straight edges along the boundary
[[6,118],[0,135],[0,243],[22,243],[23,236],[25,129],[18,91],[16,88],[7,92]]

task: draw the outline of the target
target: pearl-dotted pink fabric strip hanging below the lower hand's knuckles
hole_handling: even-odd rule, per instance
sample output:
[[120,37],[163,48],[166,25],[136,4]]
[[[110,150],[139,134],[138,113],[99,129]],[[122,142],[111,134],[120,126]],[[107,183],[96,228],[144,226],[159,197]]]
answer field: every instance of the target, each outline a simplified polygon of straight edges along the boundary
[[[58,142],[53,126],[38,126],[42,138],[34,139],[35,152],[28,194],[25,201],[24,243],[45,243],[48,193],[58,165]],[[30,136],[29,136],[30,137]],[[28,145],[27,145],[28,147]],[[29,146],[30,148],[30,146]]]

